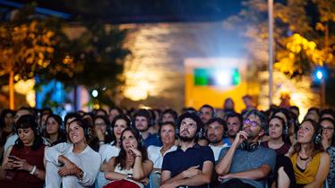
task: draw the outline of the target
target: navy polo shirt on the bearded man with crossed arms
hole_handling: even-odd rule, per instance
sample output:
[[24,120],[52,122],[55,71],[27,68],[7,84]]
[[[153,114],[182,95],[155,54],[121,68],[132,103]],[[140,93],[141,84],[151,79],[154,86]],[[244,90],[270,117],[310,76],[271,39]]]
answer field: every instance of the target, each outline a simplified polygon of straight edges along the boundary
[[[202,170],[205,161],[210,161],[213,165],[215,164],[214,154],[209,146],[201,146],[196,143],[192,148],[188,148],[185,151],[178,147],[175,151],[165,155],[162,171],[168,170],[171,173],[171,177],[174,177],[190,167],[199,165],[199,169]],[[207,188],[207,184],[188,187]]]

